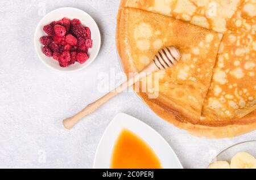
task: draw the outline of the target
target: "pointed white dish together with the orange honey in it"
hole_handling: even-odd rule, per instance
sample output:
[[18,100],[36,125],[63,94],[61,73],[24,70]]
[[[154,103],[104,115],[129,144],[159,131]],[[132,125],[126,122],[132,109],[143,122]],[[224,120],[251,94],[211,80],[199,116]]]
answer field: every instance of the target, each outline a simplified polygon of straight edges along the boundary
[[93,168],[182,169],[170,145],[153,128],[119,113],[102,136]]

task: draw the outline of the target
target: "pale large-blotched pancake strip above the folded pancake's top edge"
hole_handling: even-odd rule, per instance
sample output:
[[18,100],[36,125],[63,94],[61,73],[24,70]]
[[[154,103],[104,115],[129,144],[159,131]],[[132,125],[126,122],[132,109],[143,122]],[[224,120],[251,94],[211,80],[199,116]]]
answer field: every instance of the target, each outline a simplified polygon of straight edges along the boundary
[[158,12],[223,33],[240,3],[240,0],[123,0],[121,6]]

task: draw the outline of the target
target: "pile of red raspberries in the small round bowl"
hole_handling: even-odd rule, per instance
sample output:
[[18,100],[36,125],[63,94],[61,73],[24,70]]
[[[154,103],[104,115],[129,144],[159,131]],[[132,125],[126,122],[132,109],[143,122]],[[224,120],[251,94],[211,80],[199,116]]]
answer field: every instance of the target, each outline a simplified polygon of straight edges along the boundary
[[75,62],[84,63],[88,58],[88,49],[92,48],[90,29],[82,26],[79,19],[63,18],[43,27],[47,36],[40,37],[42,52],[68,67]]

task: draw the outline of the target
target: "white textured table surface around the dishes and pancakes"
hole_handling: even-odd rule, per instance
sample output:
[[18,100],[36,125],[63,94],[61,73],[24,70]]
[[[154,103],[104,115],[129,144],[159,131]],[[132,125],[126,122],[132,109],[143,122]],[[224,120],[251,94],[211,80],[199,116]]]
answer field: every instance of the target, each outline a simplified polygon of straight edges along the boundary
[[[122,93],[72,131],[61,119],[103,95],[100,72],[121,72],[115,52],[119,0],[0,2],[0,168],[92,168],[97,144],[119,112],[155,128],[171,145],[184,168],[205,168],[222,149],[256,139],[256,131],[233,139],[196,138],[162,121],[134,93]],[[77,7],[96,20],[102,47],[96,61],[72,74],[55,72],[35,54],[37,23],[59,7]],[[45,8],[44,8],[45,7]]]

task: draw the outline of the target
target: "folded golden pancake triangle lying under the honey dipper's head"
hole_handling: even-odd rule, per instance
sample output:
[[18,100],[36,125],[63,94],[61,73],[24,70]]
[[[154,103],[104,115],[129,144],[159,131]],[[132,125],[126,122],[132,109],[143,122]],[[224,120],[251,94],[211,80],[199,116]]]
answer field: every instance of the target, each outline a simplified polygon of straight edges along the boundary
[[125,72],[138,72],[164,46],[180,50],[181,62],[160,72],[155,104],[197,123],[212,79],[222,35],[171,17],[135,8],[119,14],[117,46]]

